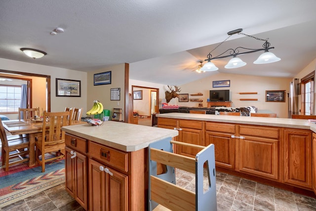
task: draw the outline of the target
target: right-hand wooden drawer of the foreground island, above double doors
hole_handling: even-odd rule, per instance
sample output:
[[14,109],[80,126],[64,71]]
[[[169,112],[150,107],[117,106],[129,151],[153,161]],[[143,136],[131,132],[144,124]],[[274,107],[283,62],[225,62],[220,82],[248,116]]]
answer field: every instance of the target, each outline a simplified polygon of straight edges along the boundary
[[128,171],[128,154],[101,144],[89,142],[89,155],[116,169]]

